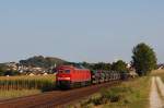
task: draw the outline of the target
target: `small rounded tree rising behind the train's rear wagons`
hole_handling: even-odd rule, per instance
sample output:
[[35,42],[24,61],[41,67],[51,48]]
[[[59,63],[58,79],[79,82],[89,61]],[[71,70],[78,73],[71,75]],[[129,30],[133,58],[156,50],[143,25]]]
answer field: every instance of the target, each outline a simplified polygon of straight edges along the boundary
[[112,65],[112,70],[118,71],[118,72],[128,72],[127,63],[122,60],[118,60],[117,62],[114,62]]

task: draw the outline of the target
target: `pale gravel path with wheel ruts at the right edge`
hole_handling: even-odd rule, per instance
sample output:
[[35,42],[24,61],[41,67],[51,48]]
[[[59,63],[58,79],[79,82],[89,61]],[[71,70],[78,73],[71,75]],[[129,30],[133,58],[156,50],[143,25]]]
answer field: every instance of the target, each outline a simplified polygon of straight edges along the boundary
[[162,98],[157,92],[157,87],[160,91],[163,86],[163,82],[160,77],[153,76],[152,77],[152,85],[151,85],[151,93],[150,93],[150,108],[164,108]]

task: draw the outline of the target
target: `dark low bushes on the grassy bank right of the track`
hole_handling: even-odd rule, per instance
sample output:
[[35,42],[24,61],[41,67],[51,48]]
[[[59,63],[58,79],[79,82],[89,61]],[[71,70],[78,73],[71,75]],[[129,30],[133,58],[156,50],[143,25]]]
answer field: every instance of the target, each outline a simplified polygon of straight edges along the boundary
[[126,97],[125,94],[128,92],[132,93],[132,89],[130,87],[112,87],[109,89],[102,89],[101,96],[90,98],[87,101],[84,101],[81,104],[82,108],[85,108],[87,105],[93,104],[94,106],[104,105],[107,103],[118,103],[122,100],[125,104],[129,104],[130,101],[128,99],[124,99]]

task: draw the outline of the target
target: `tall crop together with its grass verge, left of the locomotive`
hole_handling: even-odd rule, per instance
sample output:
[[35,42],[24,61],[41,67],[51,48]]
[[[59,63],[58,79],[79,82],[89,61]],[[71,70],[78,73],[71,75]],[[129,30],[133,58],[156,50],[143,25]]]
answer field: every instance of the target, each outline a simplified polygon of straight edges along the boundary
[[0,99],[39,94],[54,87],[55,75],[1,76]]

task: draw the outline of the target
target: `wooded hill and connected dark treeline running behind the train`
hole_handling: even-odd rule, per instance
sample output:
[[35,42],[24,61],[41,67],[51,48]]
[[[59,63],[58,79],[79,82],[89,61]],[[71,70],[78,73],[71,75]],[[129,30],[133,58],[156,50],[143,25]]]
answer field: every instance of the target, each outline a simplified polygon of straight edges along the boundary
[[86,68],[91,70],[113,70],[113,71],[128,71],[127,63],[122,60],[118,60],[117,62],[113,63],[87,63],[87,62],[68,62],[62,59],[52,58],[52,57],[43,57],[43,56],[35,56],[26,60],[21,60],[20,65],[27,65],[27,67],[39,67],[39,68],[50,68],[61,64],[73,64],[79,68]]

